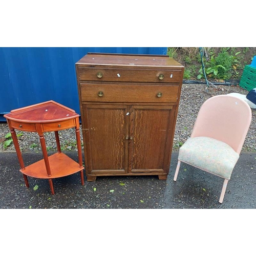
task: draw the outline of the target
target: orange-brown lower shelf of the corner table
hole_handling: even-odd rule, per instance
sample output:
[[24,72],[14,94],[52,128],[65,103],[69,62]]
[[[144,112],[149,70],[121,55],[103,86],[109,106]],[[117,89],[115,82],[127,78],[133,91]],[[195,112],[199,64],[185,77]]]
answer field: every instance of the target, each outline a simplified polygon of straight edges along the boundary
[[51,176],[47,175],[44,159],[28,165],[24,170],[20,169],[20,172],[34,178],[54,179],[68,176],[84,169],[84,167],[80,167],[76,161],[63,153],[55,153],[49,156],[48,159],[51,168]]

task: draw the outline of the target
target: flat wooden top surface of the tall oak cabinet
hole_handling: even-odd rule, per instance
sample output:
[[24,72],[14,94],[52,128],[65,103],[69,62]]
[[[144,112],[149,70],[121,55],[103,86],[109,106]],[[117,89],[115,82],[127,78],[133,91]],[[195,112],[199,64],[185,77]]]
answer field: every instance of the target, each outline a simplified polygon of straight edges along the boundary
[[147,54],[107,54],[88,53],[76,62],[77,66],[128,66],[128,67],[156,67],[175,68],[184,67],[168,55]]

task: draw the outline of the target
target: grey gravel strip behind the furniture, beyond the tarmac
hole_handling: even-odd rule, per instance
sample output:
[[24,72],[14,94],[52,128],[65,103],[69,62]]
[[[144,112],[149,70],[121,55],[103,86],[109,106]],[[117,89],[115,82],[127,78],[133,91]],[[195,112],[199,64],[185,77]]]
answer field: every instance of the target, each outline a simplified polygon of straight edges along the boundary
[[[193,129],[197,114],[201,105],[208,98],[229,93],[239,93],[246,95],[248,91],[240,86],[211,86],[206,84],[192,84],[183,83],[181,88],[181,96],[179,103],[179,111],[177,116],[173,150],[179,150],[179,147],[189,138]],[[252,152],[256,151],[256,110],[252,109],[252,120],[247,133],[242,151]],[[4,139],[9,133],[8,125],[6,122],[0,123],[0,139]],[[39,152],[40,141],[39,136],[34,133],[17,131],[20,149],[24,151]],[[67,129],[59,132],[60,144],[62,151],[71,151],[76,149],[76,137],[74,129]],[[80,126],[80,137],[82,140],[82,130]],[[55,151],[57,149],[55,143],[54,133],[45,133],[46,145],[48,151]],[[0,141],[1,142],[1,141]],[[4,147],[4,142],[0,144],[0,151],[15,151],[13,143],[7,148]]]

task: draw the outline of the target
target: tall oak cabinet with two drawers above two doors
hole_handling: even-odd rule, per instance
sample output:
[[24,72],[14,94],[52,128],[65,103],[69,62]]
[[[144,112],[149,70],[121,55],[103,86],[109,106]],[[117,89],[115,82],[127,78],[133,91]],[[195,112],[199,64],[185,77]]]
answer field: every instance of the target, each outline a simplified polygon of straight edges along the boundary
[[183,72],[162,55],[91,53],[76,63],[88,181],[167,179]]

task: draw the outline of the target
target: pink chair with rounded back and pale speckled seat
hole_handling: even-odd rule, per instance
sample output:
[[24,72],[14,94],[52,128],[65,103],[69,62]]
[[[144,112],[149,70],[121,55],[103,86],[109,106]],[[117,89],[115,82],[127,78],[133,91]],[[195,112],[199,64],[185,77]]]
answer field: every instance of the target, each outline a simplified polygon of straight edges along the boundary
[[223,202],[251,123],[251,109],[242,99],[218,95],[206,100],[198,113],[191,137],[180,147],[174,181],[181,162],[224,179]]

